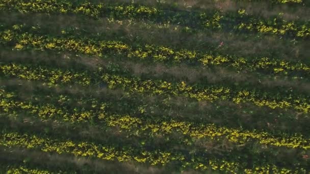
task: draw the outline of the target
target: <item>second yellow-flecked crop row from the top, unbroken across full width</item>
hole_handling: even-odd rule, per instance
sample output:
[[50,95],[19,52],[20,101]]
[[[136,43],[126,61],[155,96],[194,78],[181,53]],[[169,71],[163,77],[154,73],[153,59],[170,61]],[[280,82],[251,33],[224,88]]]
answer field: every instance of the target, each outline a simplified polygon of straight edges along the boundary
[[[14,25],[20,30],[19,25]],[[13,44],[15,49],[60,50],[75,51],[83,54],[106,56],[107,54],[120,54],[128,59],[151,60],[154,62],[172,62],[200,64],[208,66],[222,66],[240,71],[263,71],[280,75],[310,74],[310,67],[303,63],[292,63],[284,60],[270,59],[268,57],[245,59],[229,55],[212,55],[190,51],[186,49],[174,50],[169,47],[144,45],[130,46],[119,41],[94,41],[87,38],[76,39],[72,37],[50,37],[30,33],[6,30],[0,33],[0,43]],[[298,78],[298,77],[296,77]],[[300,77],[303,78],[303,77]]]

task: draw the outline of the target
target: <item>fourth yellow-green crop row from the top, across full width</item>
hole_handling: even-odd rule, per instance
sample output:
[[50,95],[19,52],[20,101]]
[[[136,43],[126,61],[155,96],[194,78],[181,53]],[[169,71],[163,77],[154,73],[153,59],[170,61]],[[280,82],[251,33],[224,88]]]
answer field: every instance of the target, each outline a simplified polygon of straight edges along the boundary
[[[175,131],[196,139],[209,137],[219,140],[219,138],[225,137],[229,141],[239,144],[248,142],[251,139],[257,139],[262,144],[310,149],[310,140],[297,134],[295,136],[283,134],[282,137],[274,137],[267,132],[250,132],[241,129],[217,127],[214,124],[194,126],[189,122],[177,122],[174,120],[163,122],[161,118],[150,121],[143,118],[131,117],[130,115],[110,115],[106,110],[107,103],[93,104],[93,108],[90,110],[85,110],[84,108],[66,109],[64,106],[58,107],[50,103],[46,105],[34,105],[31,102],[16,102],[11,100],[14,94],[5,93],[5,91],[2,91],[0,96],[2,97],[0,106],[5,112],[14,113],[14,111],[22,109],[24,113],[38,115],[38,117],[43,120],[61,118],[61,120],[68,122],[99,122],[101,124],[105,123],[107,126],[117,126],[123,130],[128,130],[132,132],[133,135],[138,132],[137,130],[140,130],[141,133],[144,131],[149,132],[150,136],[154,136],[155,134],[165,135]],[[61,96],[59,101],[61,103],[66,103],[69,102],[70,99]],[[183,143],[190,145],[191,142],[185,140]]]

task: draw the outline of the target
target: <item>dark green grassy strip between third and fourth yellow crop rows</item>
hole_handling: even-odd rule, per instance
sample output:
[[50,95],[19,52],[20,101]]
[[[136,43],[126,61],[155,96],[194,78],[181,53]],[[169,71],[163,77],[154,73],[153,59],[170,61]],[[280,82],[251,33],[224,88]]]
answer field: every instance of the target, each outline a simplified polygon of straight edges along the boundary
[[[27,84],[25,81],[20,82],[23,85]],[[210,124],[220,119],[220,122],[216,121],[217,126],[225,126],[227,128],[242,127],[244,130],[249,131],[267,131],[275,136],[277,136],[278,133],[287,132],[290,135],[300,133],[305,137],[309,137],[307,135],[309,131],[307,125],[310,124],[310,120],[307,118],[307,114],[298,115],[299,117],[297,119],[294,113],[283,110],[274,111],[273,109],[266,108],[264,112],[262,112],[259,106],[249,108],[248,106],[244,107],[242,104],[231,106],[228,104],[221,105],[218,102],[208,103],[209,107],[203,108],[201,112],[202,108],[199,106],[199,102],[189,101],[188,99],[184,101],[184,105],[179,105],[174,103],[174,97],[166,98],[165,96],[156,96],[154,101],[149,101],[149,97],[143,96],[143,94],[125,95],[122,93],[121,96],[119,96],[119,92],[115,94],[114,90],[108,90],[104,93],[93,93],[94,90],[87,91],[82,86],[79,90],[85,92],[85,94],[74,93],[74,95],[72,95],[65,91],[55,91],[55,88],[47,88],[47,86],[38,86],[38,89],[34,91],[24,92],[23,85],[8,85],[3,89],[6,93],[11,92],[14,94],[14,98],[11,98],[11,100],[16,102],[27,100],[34,105],[48,102],[49,104],[74,110],[74,108],[79,108],[80,106],[83,106],[85,109],[93,109],[93,107],[99,105],[99,103],[106,103],[105,109],[107,109],[106,111],[109,114],[128,114],[134,115],[135,117],[147,118],[148,120],[157,120],[161,118],[161,122],[169,122],[171,117],[173,117],[177,122],[190,122],[192,125],[197,123]],[[67,89],[67,87],[64,88]],[[26,99],[24,98],[25,94],[31,95]],[[20,98],[18,96],[24,97]],[[63,98],[66,100],[63,101]],[[238,109],[238,112],[236,112],[236,109]],[[198,110],[200,110],[200,112],[197,112]],[[241,119],[242,115],[245,113],[249,114],[252,122],[251,124],[249,124],[248,120]],[[271,123],[272,125],[267,123]],[[271,128],[274,129],[272,130]]]

